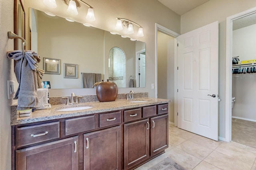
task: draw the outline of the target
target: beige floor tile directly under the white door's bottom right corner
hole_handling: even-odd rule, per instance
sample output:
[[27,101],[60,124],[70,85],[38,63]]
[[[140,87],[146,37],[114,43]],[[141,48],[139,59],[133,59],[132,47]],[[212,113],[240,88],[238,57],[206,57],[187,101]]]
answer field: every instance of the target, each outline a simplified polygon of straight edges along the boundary
[[200,144],[204,147],[207,147],[209,149],[216,149],[220,144],[222,144],[222,141],[214,141],[212,139],[202,137],[200,135],[195,135],[194,137],[189,139],[190,141]]

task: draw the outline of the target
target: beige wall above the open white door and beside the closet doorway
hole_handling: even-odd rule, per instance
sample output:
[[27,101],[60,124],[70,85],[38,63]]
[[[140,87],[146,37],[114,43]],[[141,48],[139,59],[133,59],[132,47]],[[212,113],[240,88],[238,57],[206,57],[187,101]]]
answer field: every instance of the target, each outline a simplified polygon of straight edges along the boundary
[[219,21],[219,136],[225,138],[226,18],[256,6],[255,0],[210,0],[181,16],[181,33]]

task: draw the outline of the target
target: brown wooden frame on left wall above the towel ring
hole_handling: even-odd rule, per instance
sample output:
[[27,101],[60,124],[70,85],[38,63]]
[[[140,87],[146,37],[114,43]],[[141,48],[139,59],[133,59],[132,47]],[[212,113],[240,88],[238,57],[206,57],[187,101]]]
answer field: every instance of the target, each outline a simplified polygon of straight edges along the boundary
[[[19,13],[18,13],[19,4],[20,4],[21,10],[23,12],[23,15],[21,16],[21,18],[22,18],[21,25],[19,25],[19,21],[18,21],[19,20]],[[14,33],[16,35],[18,35],[19,27],[21,27],[21,29],[22,29],[22,33],[21,33],[22,35],[19,35],[19,36],[26,39],[25,38],[25,10],[24,10],[24,6],[23,6],[23,3],[22,3],[22,0],[14,0]],[[18,50],[18,39],[14,39],[14,50]]]

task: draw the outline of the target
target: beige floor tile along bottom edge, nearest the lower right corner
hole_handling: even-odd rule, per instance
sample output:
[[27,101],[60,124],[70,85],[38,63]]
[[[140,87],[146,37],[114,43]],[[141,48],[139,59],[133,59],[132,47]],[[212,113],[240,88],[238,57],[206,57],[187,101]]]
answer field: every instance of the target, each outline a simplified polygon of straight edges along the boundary
[[204,159],[204,161],[222,170],[250,170],[252,167],[245,162],[242,162],[217,151],[213,151],[209,156]]

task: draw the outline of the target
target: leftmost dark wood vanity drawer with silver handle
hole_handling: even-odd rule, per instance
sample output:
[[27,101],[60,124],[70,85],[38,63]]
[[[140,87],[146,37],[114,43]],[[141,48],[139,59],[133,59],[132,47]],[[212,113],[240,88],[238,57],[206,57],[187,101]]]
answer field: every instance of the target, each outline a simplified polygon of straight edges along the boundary
[[17,128],[17,147],[44,142],[60,137],[60,122]]

